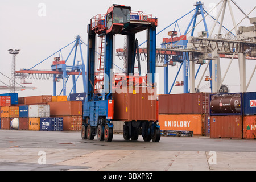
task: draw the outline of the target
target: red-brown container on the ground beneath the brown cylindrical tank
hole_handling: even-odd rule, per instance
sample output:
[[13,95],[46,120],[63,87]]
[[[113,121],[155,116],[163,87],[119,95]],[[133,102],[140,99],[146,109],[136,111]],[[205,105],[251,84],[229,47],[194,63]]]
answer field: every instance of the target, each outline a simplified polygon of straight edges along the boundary
[[242,116],[211,116],[210,138],[242,139]]

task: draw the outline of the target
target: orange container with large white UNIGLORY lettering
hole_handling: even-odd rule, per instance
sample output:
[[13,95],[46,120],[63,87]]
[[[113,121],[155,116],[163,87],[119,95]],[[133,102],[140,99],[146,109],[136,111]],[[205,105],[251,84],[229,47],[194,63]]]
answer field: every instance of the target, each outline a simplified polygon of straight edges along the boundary
[[193,131],[193,135],[204,135],[204,118],[201,114],[159,115],[160,130]]

